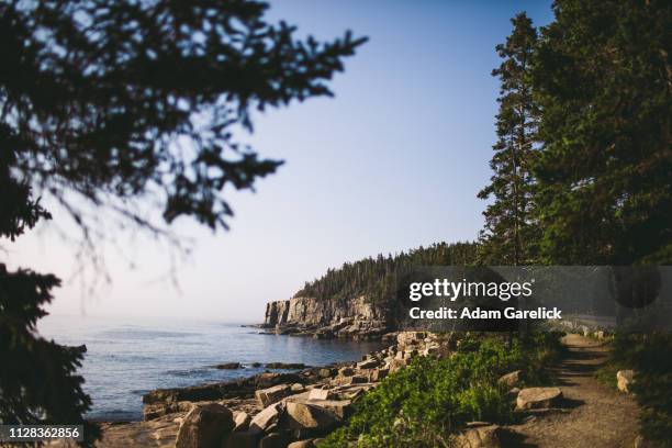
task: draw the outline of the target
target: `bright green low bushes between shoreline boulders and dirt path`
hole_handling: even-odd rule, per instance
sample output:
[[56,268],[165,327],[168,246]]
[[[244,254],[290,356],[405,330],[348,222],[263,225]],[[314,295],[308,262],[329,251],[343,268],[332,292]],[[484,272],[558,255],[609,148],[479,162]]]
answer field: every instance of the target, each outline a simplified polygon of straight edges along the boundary
[[559,347],[558,334],[508,344],[466,337],[448,358],[417,358],[355,403],[352,416],[321,447],[440,447],[467,422],[507,422],[513,406],[497,379],[513,370],[540,376],[539,354]]

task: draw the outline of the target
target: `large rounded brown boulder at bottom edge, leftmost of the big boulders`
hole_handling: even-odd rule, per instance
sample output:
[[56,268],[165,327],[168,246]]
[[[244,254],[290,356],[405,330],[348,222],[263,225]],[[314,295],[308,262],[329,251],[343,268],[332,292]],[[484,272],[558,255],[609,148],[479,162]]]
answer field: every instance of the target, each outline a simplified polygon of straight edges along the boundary
[[219,448],[222,438],[234,428],[233,414],[217,403],[194,405],[177,434],[176,448]]

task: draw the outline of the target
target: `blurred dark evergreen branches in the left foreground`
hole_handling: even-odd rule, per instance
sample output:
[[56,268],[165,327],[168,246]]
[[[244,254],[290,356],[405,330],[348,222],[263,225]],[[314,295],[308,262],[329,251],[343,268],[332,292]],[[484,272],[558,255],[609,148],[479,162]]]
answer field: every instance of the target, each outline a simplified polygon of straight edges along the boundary
[[[38,220],[48,194],[85,228],[80,204],[160,233],[191,216],[226,228],[225,188],[250,189],[279,160],[237,132],[255,110],[329,96],[363,38],[298,40],[254,0],[43,0],[0,4],[0,236]],[[150,202],[152,201],[152,202]],[[81,350],[35,334],[58,279],[0,269],[0,423],[77,423],[90,401]]]

